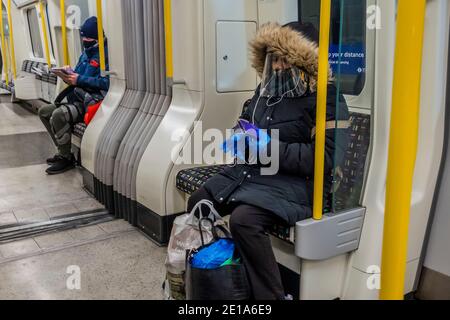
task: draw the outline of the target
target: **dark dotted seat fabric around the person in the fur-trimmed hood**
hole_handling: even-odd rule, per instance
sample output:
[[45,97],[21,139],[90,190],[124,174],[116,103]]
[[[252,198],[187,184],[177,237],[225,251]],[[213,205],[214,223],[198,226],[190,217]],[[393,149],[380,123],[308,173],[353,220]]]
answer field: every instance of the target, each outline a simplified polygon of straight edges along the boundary
[[[352,113],[350,122],[350,139],[341,166],[343,176],[339,182],[339,188],[331,195],[334,200],[333,212],[357,207],[364,183],[364,170],[370,145],[370,115]],[[177,188],[192,194],[224,167],[212,166],[183,170],[177,175]],[[272,234],[291,243],[295,240],[293,228],[274,226]]]

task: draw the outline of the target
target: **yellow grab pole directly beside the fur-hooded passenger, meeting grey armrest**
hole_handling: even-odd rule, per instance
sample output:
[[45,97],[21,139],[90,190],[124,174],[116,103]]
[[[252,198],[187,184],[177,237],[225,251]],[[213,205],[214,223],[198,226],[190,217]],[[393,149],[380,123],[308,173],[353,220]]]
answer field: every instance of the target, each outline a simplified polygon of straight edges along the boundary
[[325,175],[325,130],[327,121],[328,52],[330,46],[331,0],[320,3],[319,78],[317,82],[316,148],[314,169],[313,218],[323,217],[323,188]]

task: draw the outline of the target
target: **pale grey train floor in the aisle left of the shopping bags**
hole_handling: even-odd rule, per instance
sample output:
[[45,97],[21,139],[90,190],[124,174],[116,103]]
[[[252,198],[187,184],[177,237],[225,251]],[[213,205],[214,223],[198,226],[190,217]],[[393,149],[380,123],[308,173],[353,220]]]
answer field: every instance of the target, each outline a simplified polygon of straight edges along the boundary
[[166,250],[124,221],[5,237],[104,211],[78,169],[45,174],[54,152],[39,118],[1,96],[0,300],[162,299]]

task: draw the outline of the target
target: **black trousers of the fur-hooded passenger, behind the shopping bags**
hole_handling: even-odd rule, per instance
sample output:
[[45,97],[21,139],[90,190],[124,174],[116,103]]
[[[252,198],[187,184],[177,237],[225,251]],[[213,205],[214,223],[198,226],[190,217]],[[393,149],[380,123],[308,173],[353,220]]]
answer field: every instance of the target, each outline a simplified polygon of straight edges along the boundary
[[205,190],[195,192],[188,203],[188,211],[201,200],[214,203],[222,216],[231,214],[230,231],[248,273],[256,300],[281,300],[285,296],[280,270],[272,250],[267,229],[282,223],[270,211],[245,204],[220,205]]

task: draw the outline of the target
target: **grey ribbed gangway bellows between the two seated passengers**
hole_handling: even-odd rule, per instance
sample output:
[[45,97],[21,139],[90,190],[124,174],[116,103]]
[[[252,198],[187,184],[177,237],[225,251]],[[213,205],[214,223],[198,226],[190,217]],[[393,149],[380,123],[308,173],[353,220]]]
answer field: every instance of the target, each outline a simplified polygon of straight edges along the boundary
[[[98,138],[94,192],[117,218],[137,224],[139,164],[172,101],[166,77],[163,1],[123,2],[124,34],[129,37],[126,92]],[[137,15],[134,12],[139,13]]]

